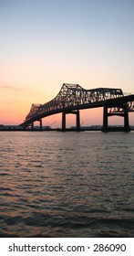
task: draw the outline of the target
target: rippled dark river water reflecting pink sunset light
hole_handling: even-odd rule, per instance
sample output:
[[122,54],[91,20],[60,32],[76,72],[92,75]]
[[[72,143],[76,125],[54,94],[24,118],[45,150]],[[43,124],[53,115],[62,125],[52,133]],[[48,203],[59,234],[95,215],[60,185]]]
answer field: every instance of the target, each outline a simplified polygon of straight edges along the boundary
[[0,132],[1,237],[134,237],[134,133]]

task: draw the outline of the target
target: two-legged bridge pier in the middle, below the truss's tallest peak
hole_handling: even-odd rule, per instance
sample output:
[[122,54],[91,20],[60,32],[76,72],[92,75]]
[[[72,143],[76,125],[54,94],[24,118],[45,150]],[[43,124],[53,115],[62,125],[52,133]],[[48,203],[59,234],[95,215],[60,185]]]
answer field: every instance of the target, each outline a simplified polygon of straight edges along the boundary
[[80,130],[80,115],[79,111],[69,111],[69,112],[62,112],[62,131],[66,131],[66,114],[67,113],[74,113],[77,115],[77,131]]

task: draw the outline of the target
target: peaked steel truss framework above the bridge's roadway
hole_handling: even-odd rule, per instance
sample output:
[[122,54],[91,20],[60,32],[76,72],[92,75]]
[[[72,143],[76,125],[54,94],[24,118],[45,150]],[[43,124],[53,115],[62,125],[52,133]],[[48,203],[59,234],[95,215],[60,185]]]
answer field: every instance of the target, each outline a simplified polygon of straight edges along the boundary
[[85,90],[78,84],[64,83],[57,96],[45,104],[32,104],[30,112],[26,116],[26,122],[46,115],[48,112],[66,110],[77,106],[107,101],[123,96],[121,89],[97,88]]

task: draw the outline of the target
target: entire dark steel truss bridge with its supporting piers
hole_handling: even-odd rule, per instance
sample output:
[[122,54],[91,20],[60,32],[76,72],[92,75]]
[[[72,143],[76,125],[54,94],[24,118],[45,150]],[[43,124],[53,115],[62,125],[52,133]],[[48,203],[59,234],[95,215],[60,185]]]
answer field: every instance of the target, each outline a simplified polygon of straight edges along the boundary
[[119,115],[124,118],[125,132],[129,132],[129,112],[134,112],[134,94],[124,96],[121,89],[97,88],[93,90],[83,89],[79,84],[63,83],[57,96],[45,104],[32,104],[30,112],[26,115],[24,128],[34,123],[40,123],[42,130],[42,119],[56,113],[62,113],[62,131],[66,131],[66,115],[76,115],[77,131],[80,131],[80,110],[103,107],[102,131],[108,132],[108,117]]

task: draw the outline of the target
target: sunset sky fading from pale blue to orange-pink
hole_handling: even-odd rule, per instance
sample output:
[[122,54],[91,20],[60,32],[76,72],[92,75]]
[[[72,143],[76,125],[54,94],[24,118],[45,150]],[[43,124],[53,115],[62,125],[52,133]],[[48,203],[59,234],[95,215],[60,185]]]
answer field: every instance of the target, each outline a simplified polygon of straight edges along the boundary
[[[0,0],[0,124],[22,123],[65,82],[134,93],[133,27],[134,0]],[[102,109],[80,120],[102,124]],[[53,122],[61,126],[61,115],[43,119]]]

